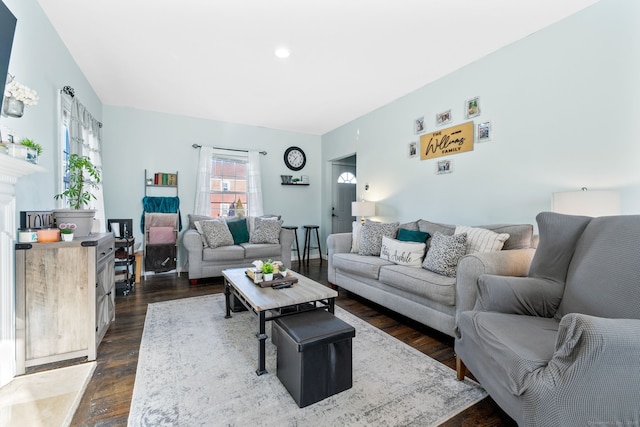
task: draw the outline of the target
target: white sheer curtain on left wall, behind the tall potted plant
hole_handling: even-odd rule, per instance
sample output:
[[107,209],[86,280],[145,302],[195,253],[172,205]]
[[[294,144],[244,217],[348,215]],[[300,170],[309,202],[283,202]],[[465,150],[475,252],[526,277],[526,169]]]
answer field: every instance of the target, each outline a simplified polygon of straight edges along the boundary
[[[69,155],[78,154],[89,157],[91,162],[102,172],[102,123],[91,115],[85,106],[78,101],[78,98],[70,96],[64,91],[60,94],[60,105],[62,125],[68,131],[68,135],[66,135],[68,140],[65,142],[63,150],[67,150]],[[64,165],[64,160],[62,164]],[[60,176],[63,176],[64,170],[62,167],[60,169]],[[63,190],[64,188],[60,192]],[[95,219],[98,221],[100,231],[104,232],[106,219],[102,182],[98,184],[97,189],[93,190],[93,194],[96,198],[87,208],[96,210]]]

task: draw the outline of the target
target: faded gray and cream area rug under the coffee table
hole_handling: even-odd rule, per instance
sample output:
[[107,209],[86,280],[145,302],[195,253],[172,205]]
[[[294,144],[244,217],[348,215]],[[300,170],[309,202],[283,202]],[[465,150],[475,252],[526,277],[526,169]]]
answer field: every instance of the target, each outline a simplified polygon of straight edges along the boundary
[[[429,426],[486,396],[476,383],[336,307],[356,329],[353,387],[299,408],[276,375],[255,373],[257,319],[224,318],[224,295],[149,304],[129,426]],[[270,328],[267,325],[267,333]]]

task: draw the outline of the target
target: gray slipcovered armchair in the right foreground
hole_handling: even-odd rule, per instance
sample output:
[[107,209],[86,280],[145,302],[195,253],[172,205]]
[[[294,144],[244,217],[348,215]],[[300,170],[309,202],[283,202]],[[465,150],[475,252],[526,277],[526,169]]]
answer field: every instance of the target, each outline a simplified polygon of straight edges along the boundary
[[459,316],[458,377],[520,426],[639,426],[640,216],[537,221],[528,276],[480,276]]

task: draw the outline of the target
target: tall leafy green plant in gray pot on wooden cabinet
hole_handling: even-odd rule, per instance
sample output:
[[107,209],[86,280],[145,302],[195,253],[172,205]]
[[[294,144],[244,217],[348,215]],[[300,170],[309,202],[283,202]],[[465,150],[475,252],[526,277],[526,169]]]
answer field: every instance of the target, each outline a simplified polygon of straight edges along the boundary
[[92,190],[98,188],[100,170],[91,163],[89,157],[72,154],[69,156],[66,172],[69,174],[69,187],[54,198],[65,200],[69,209],[54,209],[53,216],[57,224],[76,224],[76,236],[88,236],[96,211],[84,207],[96,199]]

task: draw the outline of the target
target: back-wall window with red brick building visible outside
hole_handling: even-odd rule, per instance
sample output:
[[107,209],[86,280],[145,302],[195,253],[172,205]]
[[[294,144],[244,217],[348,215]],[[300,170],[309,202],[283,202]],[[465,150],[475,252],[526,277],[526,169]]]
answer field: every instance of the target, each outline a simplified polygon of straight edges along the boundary
[[246,215],[247,159],[214,157],[211,160],[210,190],[211,216]]

